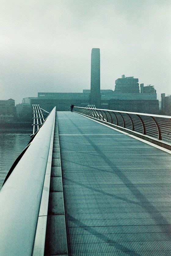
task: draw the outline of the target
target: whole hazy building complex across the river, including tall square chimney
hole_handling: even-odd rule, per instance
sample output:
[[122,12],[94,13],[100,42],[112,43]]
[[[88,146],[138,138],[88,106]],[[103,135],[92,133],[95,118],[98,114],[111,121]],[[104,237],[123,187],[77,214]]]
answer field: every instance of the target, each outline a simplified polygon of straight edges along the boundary
[[[154,87],[148,90],[142,88],[140,93],[138,78],[133,76],[118,78],[115,81],[115,91],[100,90],[100,49],[93,48],[91,52],[91,89],[82,93],[38,92],[37,98],[24,98],[23,105],[17,105],[20,110],[25,104],[39,104],[42,108],[51,111],[56,106],[57,111],[65,111],[71,104],[86,107],[89,104],[96,108],[106,108],[130,112],[157,114],[158,100]],[[153,88],[153,93],[149,91]],[[18,110],[17,110],[18,113]]]

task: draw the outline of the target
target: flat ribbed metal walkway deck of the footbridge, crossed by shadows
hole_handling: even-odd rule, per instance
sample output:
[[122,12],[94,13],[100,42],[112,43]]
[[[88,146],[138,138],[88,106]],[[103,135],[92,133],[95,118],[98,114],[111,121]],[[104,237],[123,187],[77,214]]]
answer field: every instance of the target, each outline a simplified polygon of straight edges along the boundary
[[77,113],[57,116],[68,255],[171,255],[171,155]]

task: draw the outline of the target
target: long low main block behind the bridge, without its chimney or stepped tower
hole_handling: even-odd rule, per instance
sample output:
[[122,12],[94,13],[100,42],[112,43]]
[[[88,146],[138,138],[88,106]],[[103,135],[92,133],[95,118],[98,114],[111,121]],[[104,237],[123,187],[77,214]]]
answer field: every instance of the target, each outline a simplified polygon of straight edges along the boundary
[[[39,92],[37,98],[30,99],[30,104],[39,104],[51,111],[56,106],[57,111],[65,111],[71,103],[78,107],[90,104],[91,90],[83,93],[45,93]],[[129,112],[158,114],[157,94],[153,93],[115,93],[112,90],[100,90],[100,108]],[[93,104],[95,105],[95,104]]]

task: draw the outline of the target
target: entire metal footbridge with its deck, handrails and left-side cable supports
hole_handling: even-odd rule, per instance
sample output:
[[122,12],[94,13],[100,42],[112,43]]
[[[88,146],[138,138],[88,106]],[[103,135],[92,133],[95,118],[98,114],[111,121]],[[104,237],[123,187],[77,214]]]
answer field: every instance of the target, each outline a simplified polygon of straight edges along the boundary
[[171,255],[171,116],[33,111],[0,191],[0,255]]

